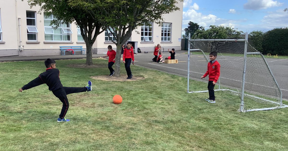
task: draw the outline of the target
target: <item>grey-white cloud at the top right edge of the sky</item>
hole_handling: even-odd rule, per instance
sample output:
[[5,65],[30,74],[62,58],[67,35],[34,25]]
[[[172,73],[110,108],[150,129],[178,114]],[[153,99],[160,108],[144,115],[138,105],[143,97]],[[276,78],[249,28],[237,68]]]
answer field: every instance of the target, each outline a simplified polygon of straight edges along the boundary
[[243,5],[246,10],[261,10],[270,7],[281,6],[284,3],[280,3],[274,0],[248,0],[247,3]]

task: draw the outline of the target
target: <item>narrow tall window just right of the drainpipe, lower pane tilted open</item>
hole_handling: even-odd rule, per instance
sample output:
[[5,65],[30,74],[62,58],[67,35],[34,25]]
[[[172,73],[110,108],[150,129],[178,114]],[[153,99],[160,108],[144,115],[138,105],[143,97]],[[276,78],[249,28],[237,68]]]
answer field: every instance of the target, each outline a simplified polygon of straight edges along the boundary
[[36,12],[26,11],[27,39],[37,40],[38,29],[36,27]]

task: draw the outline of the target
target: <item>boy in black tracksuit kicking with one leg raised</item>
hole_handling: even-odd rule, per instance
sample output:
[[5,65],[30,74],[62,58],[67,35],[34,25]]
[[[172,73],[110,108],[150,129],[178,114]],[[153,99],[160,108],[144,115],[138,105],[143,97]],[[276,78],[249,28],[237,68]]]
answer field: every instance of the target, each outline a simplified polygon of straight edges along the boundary
[[60,99],[63,103],[62,110],[60,112],[59,118],[57,122],[68,122],[70,120],[65,118],[65,115],[69,108],[69,102],[67,99],[67,95],[71,93],[79,93],[85,91],[92,90],[92,82],[88,81],[88,84],[84,87],[65,87],[60,82],[60,71],[56,69],[56,62],[53,59],[46,59],[45,60],[46,71],[41,73],[37,78],[30,81],[28,84],[24,85],[22,88],[19,89],[19,92],[23,90],[28,90],[29,88],[33,88],[35,86],[39,86],[41,84],[47,84],[49,90]]

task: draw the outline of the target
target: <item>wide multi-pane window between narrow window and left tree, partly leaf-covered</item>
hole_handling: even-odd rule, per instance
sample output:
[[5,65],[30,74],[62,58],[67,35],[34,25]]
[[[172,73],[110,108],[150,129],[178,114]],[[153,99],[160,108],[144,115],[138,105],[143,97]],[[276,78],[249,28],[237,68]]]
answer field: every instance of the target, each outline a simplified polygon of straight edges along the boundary
[[57,20],[53,16],[53,14],[48,15],[44,13],[44,33],[45,33],[45,40],[53,40],[53,41],[71,41],[71,24],[69,23],[62,23],[57,29],[53,29],[52,27],[55,26],[50,25],[52,20]]

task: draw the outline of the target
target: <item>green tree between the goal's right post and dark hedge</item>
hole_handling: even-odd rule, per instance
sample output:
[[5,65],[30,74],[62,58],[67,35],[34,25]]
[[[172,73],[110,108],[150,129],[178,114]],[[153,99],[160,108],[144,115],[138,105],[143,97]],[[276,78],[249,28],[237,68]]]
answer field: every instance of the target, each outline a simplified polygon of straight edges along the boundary
[[264,34],[262,31],[252,31],[250,35],[249,42],[250,44],[259,52],[263,52],[262,43]]

